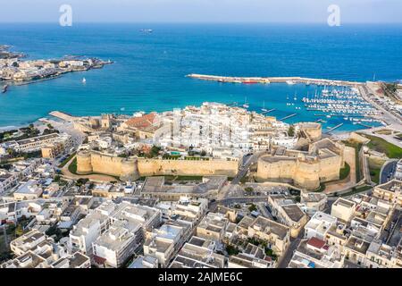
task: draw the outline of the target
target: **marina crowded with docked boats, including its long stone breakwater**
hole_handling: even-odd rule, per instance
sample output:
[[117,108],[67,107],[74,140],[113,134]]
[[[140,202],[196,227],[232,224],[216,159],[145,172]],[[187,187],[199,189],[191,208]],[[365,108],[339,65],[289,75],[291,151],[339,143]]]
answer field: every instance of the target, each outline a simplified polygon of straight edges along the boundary
[[[364,83],[357,81],[345,80],[324,80],[311,79],[302,77],[222,77],[202,74],[188,74],[188,78],[197,80],[210,80],[222,83],[239,83],[239,84],[270,84],[281,83],[292,87],[296,84],[306,86],[303,94],[297,95],[297,88],[293,97],[287,96],[286,109],[288,114],[276,113],[275,111],[282,108],[265,109],[260,108],[260,114],[272,113],[272,116],[281,118],[281,121],[287,121],[300,115],[301,112],[314,113],[316,117],[321,119],[312,120],[312,122],[320,122],[325,125],[331,132],[334,130],[344,129],[344,126],[359,126],[364,129],[370,129],[379,125],[384,125],[381,120],[381,112],[368,103],[364,97],[360,95],[359,87]],[[299,87],[299,85],[298,85]],[[248,108],[249,105],[239,105],[239,107]],[[296,113],[292,113],[295,111]],[[302,115],[303,116],[303,115]],[[310,115],[311,116],[311,115]],[[310,117],[309,116],[309,117]],[[293,121],[290,121],[293,122]]]

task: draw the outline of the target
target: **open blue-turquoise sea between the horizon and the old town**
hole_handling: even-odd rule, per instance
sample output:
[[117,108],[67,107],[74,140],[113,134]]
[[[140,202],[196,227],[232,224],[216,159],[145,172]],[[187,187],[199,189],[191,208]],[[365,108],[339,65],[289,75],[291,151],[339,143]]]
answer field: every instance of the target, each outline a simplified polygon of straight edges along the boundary
[[[154,29],[144,34],[139,29]],[[188,73],[302,76],[334,80],[402,79],[402,25],[273,24],[0,24],[0,44],[29,58],[95,56],[115,61],[102,70],[12,87],[0,95],[0,127],[33,122],[50,111],[75,115],[164,111],[204,101],[276,108],[287,122],[315,121],[286,105],[314,93],[304,85],[235,85],[191,80]],[[82,77],[87,84],[81,83]],[[302,106],[301,103],[298,103]],[[341,119],[332,118],[328,126]],[[343,130],[358,128],[346,124]]]

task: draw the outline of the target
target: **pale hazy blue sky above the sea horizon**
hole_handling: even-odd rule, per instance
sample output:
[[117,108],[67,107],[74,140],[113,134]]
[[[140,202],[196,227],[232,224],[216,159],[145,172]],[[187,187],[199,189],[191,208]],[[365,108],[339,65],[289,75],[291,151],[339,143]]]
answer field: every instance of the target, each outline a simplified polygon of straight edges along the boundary
[[401,23],[401,0],[1,0],[0,22],[322,22],[331,4],[343,23]]

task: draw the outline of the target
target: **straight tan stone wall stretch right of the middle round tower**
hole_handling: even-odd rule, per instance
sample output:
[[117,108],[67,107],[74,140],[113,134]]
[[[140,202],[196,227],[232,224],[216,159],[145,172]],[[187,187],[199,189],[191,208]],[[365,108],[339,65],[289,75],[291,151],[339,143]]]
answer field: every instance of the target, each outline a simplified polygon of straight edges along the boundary
[[227,160],[160,160],[138,159],[138,172],[141,176],[183,175],[206,176],[226,175],[234,177],[238,173],[239,162]]

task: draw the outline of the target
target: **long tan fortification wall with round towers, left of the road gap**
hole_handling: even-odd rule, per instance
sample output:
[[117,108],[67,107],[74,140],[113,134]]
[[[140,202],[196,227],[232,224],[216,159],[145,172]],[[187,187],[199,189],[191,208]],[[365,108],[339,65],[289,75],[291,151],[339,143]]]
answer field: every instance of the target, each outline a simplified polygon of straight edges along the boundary
[[81,150],[77,154],[77,173],[104,173],[121,180],[136,180],[145,176],[211,176],[234,177],[239,161],[234,160],[169,160],[158,158],[122,158],[94,150]]

